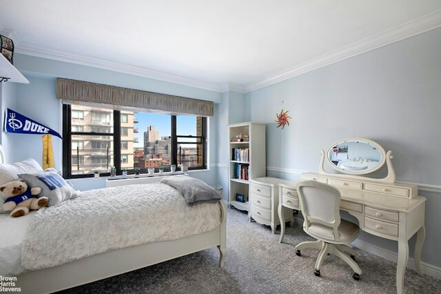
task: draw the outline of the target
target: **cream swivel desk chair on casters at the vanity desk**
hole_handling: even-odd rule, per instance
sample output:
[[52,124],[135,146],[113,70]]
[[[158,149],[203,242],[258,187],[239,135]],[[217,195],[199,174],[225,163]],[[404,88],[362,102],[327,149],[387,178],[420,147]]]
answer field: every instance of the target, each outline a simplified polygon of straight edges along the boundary
[[353,278],[360,280],[362,272],[355,262],[355,251],[345,246],[358,237],[360,228],[345,219],[340,219],[340,192],[327,184],[306,181],[298,183],[297,193],[305,219],[303,230],[317,241],[298,244],[296,255],[300,256],[300,251],[305,248],[320,249],[314,271],[316,276],[320,276],[320,266],[325,255],[332,253],[349,264],[355,272]]

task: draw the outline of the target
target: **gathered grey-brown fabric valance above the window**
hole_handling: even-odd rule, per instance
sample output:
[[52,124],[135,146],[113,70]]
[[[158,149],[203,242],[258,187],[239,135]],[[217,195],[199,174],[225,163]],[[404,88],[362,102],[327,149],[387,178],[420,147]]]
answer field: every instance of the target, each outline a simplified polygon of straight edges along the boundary
[[121,110],[162,112],[172,115],[214,115],[212,101],[57,78],[57,99],[66,104],[112,106]]

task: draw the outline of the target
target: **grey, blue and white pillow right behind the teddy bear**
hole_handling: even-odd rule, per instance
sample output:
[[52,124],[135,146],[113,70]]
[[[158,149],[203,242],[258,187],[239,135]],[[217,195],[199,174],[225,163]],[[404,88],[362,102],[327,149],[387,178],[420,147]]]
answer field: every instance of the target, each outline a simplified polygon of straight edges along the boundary
[[31,188],[41,188],[39,196],[49,198],[48,206],[54,206],[65,200],[74,199],[79,196],[78,192],[57,172],[42,171],[36,174],[19,175],[19,177],[24,179],[25,183]]

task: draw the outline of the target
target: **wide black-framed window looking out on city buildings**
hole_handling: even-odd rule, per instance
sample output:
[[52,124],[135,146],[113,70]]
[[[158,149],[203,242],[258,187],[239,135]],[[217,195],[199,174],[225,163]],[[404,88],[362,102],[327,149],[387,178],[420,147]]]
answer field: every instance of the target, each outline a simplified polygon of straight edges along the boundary
[[[80,125],[74,124],[74,112],[83,114]],[[123,168],[207,166],[205,117],[63,105],[63,122],[64,177],[90,177],[94,170],[110,173],[111,166],[119,174]]]

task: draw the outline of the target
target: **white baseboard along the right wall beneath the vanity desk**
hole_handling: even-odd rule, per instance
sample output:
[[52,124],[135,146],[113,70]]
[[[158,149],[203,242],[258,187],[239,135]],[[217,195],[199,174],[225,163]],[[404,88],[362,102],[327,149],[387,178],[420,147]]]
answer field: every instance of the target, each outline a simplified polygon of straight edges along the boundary
[[[300,219],[298,217],[294,217],[294,222],[296,225],[302,226],[303,219]],[[397,262],[398,261],[398,253],[394,251],[390,251],[375,245],[372,245],[368,242],[362,241],[360,239],[356,239],[354,242],[349,244],[349,246],[354,246],[362,251],[369,252],[373,255],[377,255],[378,257],[382,257],[384,259],[387,259],[391,262]],[[434,266],[433,264],[429,264],[427,262],[421,262],[421,271],[424,273],[424,275],[429,275],[431,277],[435,277],[437,279],[441,279],[441,267],[440,266]],[[415,259],[413,257],[409,256],[409,261],[407,262],[407,267],[415,269]]]

